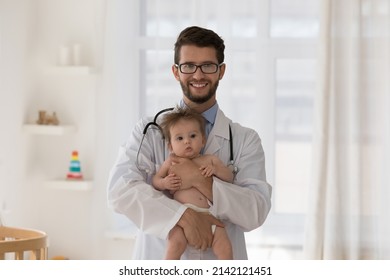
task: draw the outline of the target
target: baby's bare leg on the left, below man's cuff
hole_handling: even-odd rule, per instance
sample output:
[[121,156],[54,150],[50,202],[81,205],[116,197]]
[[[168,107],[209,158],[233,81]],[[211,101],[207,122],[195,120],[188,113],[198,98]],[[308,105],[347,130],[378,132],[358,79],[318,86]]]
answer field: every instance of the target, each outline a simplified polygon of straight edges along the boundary
[[187,248],[187,239],[181,227],[175,226],[168,235],[166,260],[180,260],[181,255]]

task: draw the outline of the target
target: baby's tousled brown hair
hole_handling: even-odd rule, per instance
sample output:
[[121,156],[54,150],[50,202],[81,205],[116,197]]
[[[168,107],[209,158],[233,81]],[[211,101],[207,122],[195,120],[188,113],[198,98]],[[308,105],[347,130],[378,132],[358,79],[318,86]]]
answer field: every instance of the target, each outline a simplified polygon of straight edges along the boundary
[[172,112],[166,113],[160,123],[160,127],[168,143],[171,142],[171,127],[176,125],[180,120],[196,121],[199,124],[202,136],[205,136],[205,120],[203,116],[190,108],[176,107]]

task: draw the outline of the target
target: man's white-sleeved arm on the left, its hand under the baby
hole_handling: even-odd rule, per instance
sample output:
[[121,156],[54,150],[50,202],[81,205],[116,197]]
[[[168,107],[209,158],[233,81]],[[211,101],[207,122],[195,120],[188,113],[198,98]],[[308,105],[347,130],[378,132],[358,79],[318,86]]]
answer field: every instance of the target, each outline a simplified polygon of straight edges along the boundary
[[156,166],[164,161],[165,145],[160,132],[149,129],[140,148],[146,123],[139,122],[120,147],[110,171],[107,199],[115,212],[128,217],[140,230],[166,239],[186,207],[150,184]]

